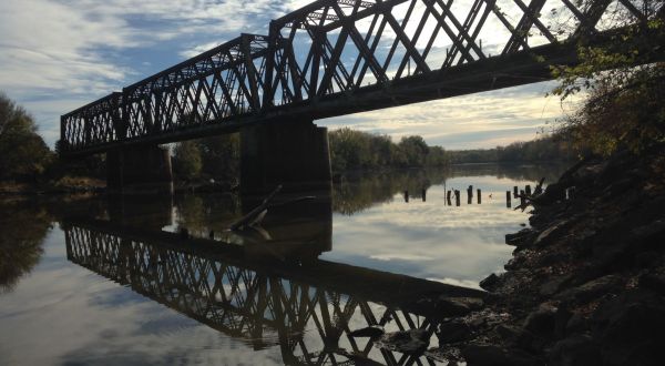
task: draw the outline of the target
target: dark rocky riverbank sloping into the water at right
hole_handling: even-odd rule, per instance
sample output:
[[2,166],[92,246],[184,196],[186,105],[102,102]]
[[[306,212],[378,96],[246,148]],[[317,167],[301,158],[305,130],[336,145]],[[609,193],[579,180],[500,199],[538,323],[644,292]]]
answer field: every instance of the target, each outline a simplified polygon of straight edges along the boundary
[[[566,192],[570,199],[566,200]],[[534,199],[482,309],[439,328],[468,365],[662,365],[665,146],[577,163]]]

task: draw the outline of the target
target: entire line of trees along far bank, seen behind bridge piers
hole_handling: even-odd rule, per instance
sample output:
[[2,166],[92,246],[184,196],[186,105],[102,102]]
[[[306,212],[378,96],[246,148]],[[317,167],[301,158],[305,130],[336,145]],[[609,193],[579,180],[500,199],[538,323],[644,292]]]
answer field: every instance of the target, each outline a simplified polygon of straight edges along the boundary
[[[422,136],[389,135],[341,128],[328,133],[334,179],[365,172],[449,169],[464,163],[520,164],[573,160],[572,144],[560,136],[485,150],[448,151]],[[190,140],[171,146],[175,189],[229,191],[238,186],[238,133]],[[63,160],[39,135],[32,116],[0,92],[0,194],[105,192],[105,156]]]

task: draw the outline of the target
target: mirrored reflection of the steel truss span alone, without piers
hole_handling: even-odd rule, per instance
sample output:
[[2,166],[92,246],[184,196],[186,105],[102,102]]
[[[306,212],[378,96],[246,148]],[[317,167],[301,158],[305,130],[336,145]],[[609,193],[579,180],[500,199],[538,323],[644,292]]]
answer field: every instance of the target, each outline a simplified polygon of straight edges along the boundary
[[413,303],[418,295],[482,295],[326,261],[310,267],[262,265],[244,258],[237,245],[183,242],[176,234],[149,234],[99,221],[65,222],[63,227],[69,261],[255,349],[277,338],[283,360],[290,365],[437,364],[427,353],[401,354],[352,337],[355,328],[349,326],[421,328],[436,339],[440,317],[419,308]]

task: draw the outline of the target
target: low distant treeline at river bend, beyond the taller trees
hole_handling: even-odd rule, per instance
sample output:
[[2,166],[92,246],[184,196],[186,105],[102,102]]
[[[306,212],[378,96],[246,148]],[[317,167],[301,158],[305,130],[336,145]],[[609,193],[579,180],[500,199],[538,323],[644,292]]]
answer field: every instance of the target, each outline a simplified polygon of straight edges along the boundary
[[513,142],[494,149],[448,151],[452,164],[573,161],[579,152],[561,135]]

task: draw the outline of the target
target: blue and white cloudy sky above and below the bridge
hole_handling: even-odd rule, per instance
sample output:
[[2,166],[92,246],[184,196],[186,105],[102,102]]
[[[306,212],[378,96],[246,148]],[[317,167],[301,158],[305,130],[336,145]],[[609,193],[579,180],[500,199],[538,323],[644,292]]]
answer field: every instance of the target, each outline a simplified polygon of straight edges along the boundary
[[[53,145],[61,114],[242,32],[267,34],[270,19],[308,2],[2,0],[0,91],[34,116],[40,134]],[[459,9],[467,9],[467,2],[456,1]],[[510,18],[510,8],[502,9]],[[505,33],[498,27],[490,22],[481,34],[488,50],[499,42],[493,43],[494,37]],[[563,108],[555,96],[545,98],[554,85],[542,82],[316,123],[389,134],[395,141],[419,134],[446,149],[493,148],[534,139],[549,122],[570,112],[571,106]]]

